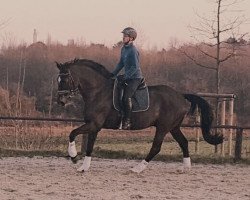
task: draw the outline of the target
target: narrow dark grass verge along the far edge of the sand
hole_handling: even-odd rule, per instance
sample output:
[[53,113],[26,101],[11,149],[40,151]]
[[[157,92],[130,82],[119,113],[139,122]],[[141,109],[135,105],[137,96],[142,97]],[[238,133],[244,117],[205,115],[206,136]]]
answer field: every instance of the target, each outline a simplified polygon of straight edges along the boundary
[[[65,157],[67,159],[67,152],[66,151],[57,151],[57,150],[13,150],[13,149],[0,149],[0,158],[1,157]],[[79,152],[79,157],[82,158],[83,155]],[[137,152],[128,152],[124,150],[107,150],[101,149],[99,147],[94,149],[93,152],[94,157],[99,158],[108,158],[108,159],[128,159],[128,160],[142,160],[145,158],[145,154],[140,154]],[[242,158],[240,161],[235,162],[234,158],[231,156],[204,156],[204,155],[191,155],[191,159],[193,163],[202,163],[202,164],[246,164],[250,165],[250,159]],[[157,155],[154,160],[163,161],[163,162],[182,162],[182,155],[181,154],[172,154],[172,155],[164,155],[159,154]]]

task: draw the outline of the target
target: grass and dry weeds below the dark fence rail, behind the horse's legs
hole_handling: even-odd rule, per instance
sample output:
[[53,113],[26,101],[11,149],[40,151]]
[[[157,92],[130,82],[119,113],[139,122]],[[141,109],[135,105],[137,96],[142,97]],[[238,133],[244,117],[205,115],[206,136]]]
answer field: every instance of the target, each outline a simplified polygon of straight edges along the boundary
[[[11,133],[10,129],[0,130],[0,157],[16,156],[58,156],[67,157],[68,133],[72,127],[44,127],[24,128],[19,132]],[[11,129],[12,130],[12,129]],[[14,130],[14,129],[13,129]],[[12,130],[12,131],[13,131]],[[16,129],[15,129],[16,130]],[[32,131],[31,131],[32,130]],[[149,152],[152,140],[152,129],[138,132],[104,130],[99,134],[93,156],[113,159],[144,159]],[[187,134],[189,140],[190,156],[194,163],[234,163],[233,156],[214,153],[214,146],[204,141],[199,142],[199,152],[195,151],[194,134]],[[80,153],[81,137],[76,140],[77,150]],[[228,141],[225,141],[227,153]],[[250,164],[250,138],[243,140],[242,160],[240,163]],[[220,147],[218,148],[220,149]],[[234,152],[233,152],[234,154]],[[154,160],[164,162],[182,162],[182,152],[178,144],[168,135],[162,145],[161,152]]]

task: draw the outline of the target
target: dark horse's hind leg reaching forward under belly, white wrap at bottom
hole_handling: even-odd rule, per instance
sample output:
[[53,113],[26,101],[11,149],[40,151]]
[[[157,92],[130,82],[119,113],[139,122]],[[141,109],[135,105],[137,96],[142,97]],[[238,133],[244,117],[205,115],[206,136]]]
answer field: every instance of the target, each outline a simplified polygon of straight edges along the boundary
[[156,128],[154,141],[153,141],[152,147],[151,147],[147,157],[145,158],[145,160],[143,160],[137,166],[133,167],[131,169],[131,171],[136,172],[136,173],[140,173],[147,167],[147,164],[149,163],[149,161],[151,161],[160,152],[161,146],[163,143],[163,139],[164,139],[166,133],[167,133],[167,131],[163,131],[160,128]]

